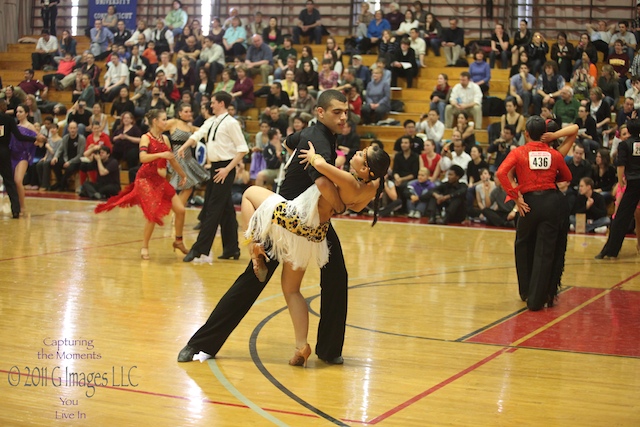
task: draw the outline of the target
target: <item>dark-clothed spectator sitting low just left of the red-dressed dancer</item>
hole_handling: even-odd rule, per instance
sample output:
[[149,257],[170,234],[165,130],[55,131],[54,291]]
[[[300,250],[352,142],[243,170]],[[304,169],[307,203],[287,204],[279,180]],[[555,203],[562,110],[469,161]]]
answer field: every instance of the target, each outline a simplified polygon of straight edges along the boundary
[[101,146],[92,154],[92,168],[97,171],[95,184],[85,181],[80,188],[80,196],[90,199],[108,199],[120,192],[120,167],[118,161],[111,158],[111,150],[108,146]]

